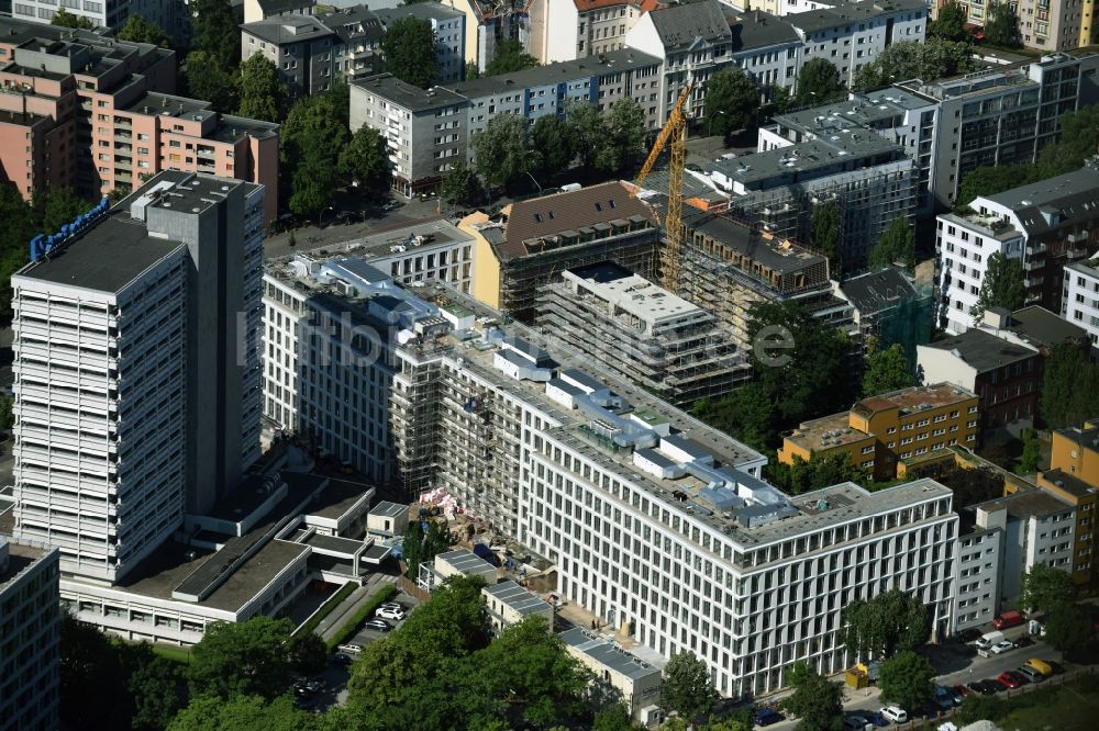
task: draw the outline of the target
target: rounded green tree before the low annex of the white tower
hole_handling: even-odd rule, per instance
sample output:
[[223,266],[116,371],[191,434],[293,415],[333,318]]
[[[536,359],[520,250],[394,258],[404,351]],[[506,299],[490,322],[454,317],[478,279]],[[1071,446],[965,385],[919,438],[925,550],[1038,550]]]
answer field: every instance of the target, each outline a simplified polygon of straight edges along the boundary
[[192,696],[262,696],[274,698],[290,684],[296,657],[293,622],[253,617],[215,622],[191,650],[187,679]]

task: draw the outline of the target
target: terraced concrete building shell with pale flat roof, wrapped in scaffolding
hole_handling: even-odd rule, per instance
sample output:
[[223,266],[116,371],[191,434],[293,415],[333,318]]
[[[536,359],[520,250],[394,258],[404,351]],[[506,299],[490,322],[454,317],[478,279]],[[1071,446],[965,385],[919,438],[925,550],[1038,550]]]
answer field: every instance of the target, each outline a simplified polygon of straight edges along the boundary
[[543,285],[536,322],[544,336],[677,406],[722,396],[751,374],[712,314],[611,262]]

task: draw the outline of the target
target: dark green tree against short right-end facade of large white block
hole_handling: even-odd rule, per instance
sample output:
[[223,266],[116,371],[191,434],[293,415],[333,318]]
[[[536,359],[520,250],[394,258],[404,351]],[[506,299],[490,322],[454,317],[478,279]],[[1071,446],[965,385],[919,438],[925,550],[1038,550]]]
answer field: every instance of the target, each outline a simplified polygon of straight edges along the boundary
[[915,650],[931,637],[928,609],[914,596],[890,589],[843,608],[844,643],[854,657],[890,657]]

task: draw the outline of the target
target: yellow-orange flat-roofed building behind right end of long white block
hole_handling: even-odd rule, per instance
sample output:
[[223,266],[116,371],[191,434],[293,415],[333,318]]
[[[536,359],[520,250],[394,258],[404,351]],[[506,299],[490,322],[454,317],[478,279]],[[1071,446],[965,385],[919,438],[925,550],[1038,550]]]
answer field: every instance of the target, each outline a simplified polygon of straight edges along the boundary
[[953,460],[954,445],[976,445],[979,421],[973,392],[948,383],[914,386],[806,421],[782,440],[778,459],[792,464],[795,458],[845,452],[874,480],[892,480],[915,464]]

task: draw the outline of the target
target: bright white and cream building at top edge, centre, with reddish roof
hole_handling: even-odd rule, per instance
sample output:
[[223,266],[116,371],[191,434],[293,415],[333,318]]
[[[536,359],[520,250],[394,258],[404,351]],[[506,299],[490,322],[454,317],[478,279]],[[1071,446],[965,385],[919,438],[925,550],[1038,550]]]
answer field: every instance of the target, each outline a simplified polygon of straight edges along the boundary
[[542,64],[598,56],[625,45],[625,34],[659,0],[534,0],[529,52]]

